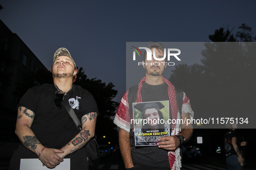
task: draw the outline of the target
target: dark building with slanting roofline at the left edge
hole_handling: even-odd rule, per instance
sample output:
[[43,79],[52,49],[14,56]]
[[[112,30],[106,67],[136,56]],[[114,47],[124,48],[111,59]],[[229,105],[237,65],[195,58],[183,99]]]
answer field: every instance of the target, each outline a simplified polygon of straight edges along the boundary
[[[33,86],[28,77],[38,69],[49,72],[18,35],[0,20],[0,104],[2,108],[0,142],[16,141],[14,133],[17,110],[21,96]],[[27,86],[27,88],[26,88]]]

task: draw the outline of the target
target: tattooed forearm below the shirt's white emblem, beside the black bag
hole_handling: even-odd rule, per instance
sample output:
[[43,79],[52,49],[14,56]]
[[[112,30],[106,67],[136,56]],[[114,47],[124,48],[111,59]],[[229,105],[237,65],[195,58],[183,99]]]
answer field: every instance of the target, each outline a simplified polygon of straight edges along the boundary
[[67,145],[61,148],[64,153],[58,153],[62,158],[82,148],[94,137],[97,113],[88,113],[82,117],[82,130]]

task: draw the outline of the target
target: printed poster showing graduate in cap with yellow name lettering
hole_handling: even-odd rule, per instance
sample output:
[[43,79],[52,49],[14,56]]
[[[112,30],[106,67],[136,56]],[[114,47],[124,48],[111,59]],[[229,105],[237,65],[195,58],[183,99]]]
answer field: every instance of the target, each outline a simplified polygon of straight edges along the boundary
[[133,103],[135,146],[156,146],[169,136],[169,101]]

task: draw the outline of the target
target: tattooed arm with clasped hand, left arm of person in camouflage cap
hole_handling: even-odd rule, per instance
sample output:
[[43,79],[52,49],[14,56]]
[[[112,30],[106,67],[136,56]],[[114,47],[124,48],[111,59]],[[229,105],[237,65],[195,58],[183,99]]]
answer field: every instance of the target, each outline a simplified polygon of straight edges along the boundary
[[[38,155],[44,146],[37,140],[36,135],[30,129],[34,117],[34,112],[26,107],[19,107],[15,133],[19,137],[20,142],[22,142],[26,148]],[[40,155],[40,160],[47,167],[53,168],[59,164],[60,161],[63,161],[63,159],[56,155],[56,153],[63,153],[63,151],[45,148]]]

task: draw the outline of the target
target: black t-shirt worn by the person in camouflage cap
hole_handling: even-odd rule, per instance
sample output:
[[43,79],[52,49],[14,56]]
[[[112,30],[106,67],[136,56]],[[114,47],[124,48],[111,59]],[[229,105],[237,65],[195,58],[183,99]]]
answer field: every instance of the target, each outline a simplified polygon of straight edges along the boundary
[[[46,148],[60,149],[78,134],[78,130],[68,111],[55,107],[55,85],[44,84],[30,88],[19,101],[18,107],[26,107],[35,113],[31,129],[36,138]],[[66,98],[78,119],[87,113],[97,112],[94,97],[78,85],[72,86]]]

